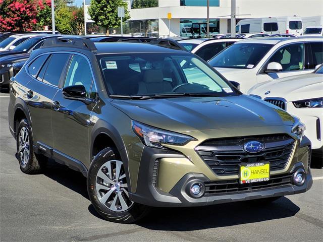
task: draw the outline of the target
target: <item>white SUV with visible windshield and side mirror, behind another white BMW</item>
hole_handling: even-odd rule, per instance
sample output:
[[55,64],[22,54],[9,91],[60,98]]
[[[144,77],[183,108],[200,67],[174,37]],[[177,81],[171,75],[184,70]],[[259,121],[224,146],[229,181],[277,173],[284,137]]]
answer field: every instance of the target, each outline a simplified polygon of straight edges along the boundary
[[240,40],[208,63],[246,92],[257,83],[313,72],[323,63],[323,37]]

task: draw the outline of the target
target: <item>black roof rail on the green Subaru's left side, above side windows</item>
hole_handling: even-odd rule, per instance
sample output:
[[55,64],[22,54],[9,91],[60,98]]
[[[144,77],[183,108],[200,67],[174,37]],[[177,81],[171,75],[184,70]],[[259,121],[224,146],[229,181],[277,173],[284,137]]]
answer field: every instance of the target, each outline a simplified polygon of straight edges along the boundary
[[[62,36],[57,36],[62,37]],[[90,51],[96,51],[95,44],[85,38],[75,38],[72,41],[63,41],[62,39],[58,38],[48,38],[45,39],[43,44],[40,48],[50,48],[50,47],[71,47],[71,48],[78,48],[78,49],[86,49]]]

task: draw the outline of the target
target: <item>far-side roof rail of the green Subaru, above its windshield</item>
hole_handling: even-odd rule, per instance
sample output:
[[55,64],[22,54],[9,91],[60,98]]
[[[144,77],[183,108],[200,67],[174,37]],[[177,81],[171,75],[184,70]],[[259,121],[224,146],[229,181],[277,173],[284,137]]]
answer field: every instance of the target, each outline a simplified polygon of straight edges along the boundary
[[119,39],[117,42],[148,43],[148,44],[163,46],[166,48],[187,51],[187,49],[185,49],[181,44],[177,43],[177,41],[170,40],[170,39],[135,37],[135,38]]

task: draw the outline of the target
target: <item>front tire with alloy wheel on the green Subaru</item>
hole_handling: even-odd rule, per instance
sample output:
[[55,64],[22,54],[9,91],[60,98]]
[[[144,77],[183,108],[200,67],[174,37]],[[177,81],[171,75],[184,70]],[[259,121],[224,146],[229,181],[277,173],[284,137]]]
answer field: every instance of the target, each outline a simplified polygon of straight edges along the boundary
[[87,175],[87,191],[95,210],[112,222],[133,223],[149,210],[129,199],[125,167],[112,148],[94,157]]

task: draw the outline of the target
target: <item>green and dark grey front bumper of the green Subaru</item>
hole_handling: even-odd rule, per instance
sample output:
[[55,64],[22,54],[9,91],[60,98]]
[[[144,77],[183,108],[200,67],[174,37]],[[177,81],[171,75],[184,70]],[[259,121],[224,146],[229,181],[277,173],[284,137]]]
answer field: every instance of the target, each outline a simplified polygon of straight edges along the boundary
[[[291,157],[293,161],[288,170],[284,174],[279,174],[292,176],[296,170],[303,168],[306,171],[306,179],[302,186],[293,185],[290,178],[290,183],[284,183],[282,186],[214,195],[206,195],[205,193],[200,198],[189,196],[188,185],[194,181],[206,185],[212,183],[212,180],[205,174],[196,172],[194,165],[191,165],[187,157],[177,151],[144,147],[140,159],[136,191],[130,192],[129,197],[134,202],[153,207],[191,207],[304,193],[312,186],[308,160],[309,146],[309,140],[304,137],[298,147],[299,152]],[[167,166],[167,168],[163,166]],[[168,189],[169,184],[174,184],[171,190]]]

